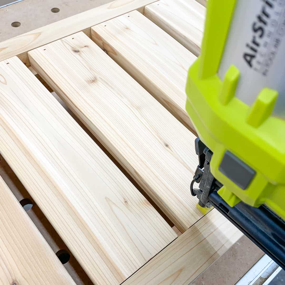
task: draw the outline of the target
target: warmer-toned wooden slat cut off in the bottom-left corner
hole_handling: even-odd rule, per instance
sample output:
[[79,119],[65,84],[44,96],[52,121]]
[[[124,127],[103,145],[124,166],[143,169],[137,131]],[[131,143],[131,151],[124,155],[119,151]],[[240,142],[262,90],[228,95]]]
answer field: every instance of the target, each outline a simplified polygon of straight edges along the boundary
[[75,285],[1,177],[0,191],[0,284]]

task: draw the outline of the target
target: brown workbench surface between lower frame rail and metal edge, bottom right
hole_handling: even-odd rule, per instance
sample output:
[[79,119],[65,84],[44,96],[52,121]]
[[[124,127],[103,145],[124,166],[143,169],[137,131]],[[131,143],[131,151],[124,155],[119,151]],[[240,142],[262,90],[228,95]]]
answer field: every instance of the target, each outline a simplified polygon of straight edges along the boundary
[[235,285],[263,255],[264,252],[243,235],[229,250],[201,273],[191,285],[203,283],[207,285]]

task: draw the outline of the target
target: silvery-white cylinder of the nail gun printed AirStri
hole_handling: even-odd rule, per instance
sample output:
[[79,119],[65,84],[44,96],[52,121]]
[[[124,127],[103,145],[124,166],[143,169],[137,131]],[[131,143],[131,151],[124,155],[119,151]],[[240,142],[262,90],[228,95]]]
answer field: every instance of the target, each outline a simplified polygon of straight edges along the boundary
[[[225,4],[226,5],[226,4]],[[278,91],[273,115],[285,119],[285,0],[237,0],[218,74],[240,71],[235,96],[252,105],[268,87]]]

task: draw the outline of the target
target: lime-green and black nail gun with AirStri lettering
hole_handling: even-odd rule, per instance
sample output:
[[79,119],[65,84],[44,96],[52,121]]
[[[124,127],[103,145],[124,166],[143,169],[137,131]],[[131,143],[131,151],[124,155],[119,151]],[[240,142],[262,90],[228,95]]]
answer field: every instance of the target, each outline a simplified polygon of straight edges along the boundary
[[186,93],[191,194],[285,269],[285,0],[209,0]]

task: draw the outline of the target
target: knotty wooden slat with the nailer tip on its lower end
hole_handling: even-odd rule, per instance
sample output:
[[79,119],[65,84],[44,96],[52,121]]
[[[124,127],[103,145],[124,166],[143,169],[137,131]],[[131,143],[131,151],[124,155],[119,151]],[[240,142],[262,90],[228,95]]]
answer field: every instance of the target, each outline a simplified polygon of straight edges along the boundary
[[85,34],[29,52],[33,68],[185,231],[201,216],[189,186],[195,136]]

